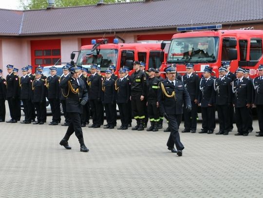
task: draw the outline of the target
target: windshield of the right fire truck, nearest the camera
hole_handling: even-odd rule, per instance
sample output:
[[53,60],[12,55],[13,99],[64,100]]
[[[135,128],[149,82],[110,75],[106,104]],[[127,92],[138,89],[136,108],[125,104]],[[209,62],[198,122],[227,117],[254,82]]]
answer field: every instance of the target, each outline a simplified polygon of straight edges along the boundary
[[167,63],[216,62],[219,37],[187,37],[171,40]]

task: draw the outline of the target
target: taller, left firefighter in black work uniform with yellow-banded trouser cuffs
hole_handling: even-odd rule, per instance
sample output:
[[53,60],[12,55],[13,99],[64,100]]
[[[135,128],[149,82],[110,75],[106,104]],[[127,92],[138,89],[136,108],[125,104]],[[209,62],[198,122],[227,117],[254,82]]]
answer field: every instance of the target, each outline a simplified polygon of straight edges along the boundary
[[131,74],[131,109],[132,115],[136,119],[136,126],[131,130],[144,130],[145,120],[145,82],[146,74],[140,70],[140,62],[133,62],[133,69]]

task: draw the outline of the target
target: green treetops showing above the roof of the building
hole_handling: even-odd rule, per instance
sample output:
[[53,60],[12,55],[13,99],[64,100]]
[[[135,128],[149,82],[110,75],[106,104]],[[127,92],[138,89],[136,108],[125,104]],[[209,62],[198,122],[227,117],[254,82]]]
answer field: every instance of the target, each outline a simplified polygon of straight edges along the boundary
[[[48,6],[48,0],[19,0],[24,10],[42,9]],[[55,0],[55,7],[68,7],[79,5],[94,5],[100,0]],[[140,0],[103,0],[104,3],[129,2]]]

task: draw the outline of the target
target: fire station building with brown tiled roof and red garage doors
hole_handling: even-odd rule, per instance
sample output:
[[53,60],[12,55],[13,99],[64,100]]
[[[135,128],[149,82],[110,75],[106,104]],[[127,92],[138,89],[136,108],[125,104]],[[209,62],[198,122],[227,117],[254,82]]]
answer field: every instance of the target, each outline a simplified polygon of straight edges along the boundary
[[70,62],[73,51],[95,38],[156,42],[170,40],[176,27],[205,24],[262,30],[262,10],[258,0],[145,0],[26,11],[0,9],[0,69],[5,76],[7,64],[19,69]]

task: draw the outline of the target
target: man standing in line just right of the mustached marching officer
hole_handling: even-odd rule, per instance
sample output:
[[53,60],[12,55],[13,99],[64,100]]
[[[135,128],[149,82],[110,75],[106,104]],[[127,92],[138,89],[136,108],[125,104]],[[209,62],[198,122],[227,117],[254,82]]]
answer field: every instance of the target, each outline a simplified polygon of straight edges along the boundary
[[197,126],[197,109],[198,109],[198,95],[199,95],[199,77],[194,74],[193,64],[188,63],[186,65],[187,73],[182,77],[185,88],[188,90],[188,93],[191,98],[191,112],[188,112],[184,107],[184,120],[185,120],[185,129],[183,132],[196,132]]

